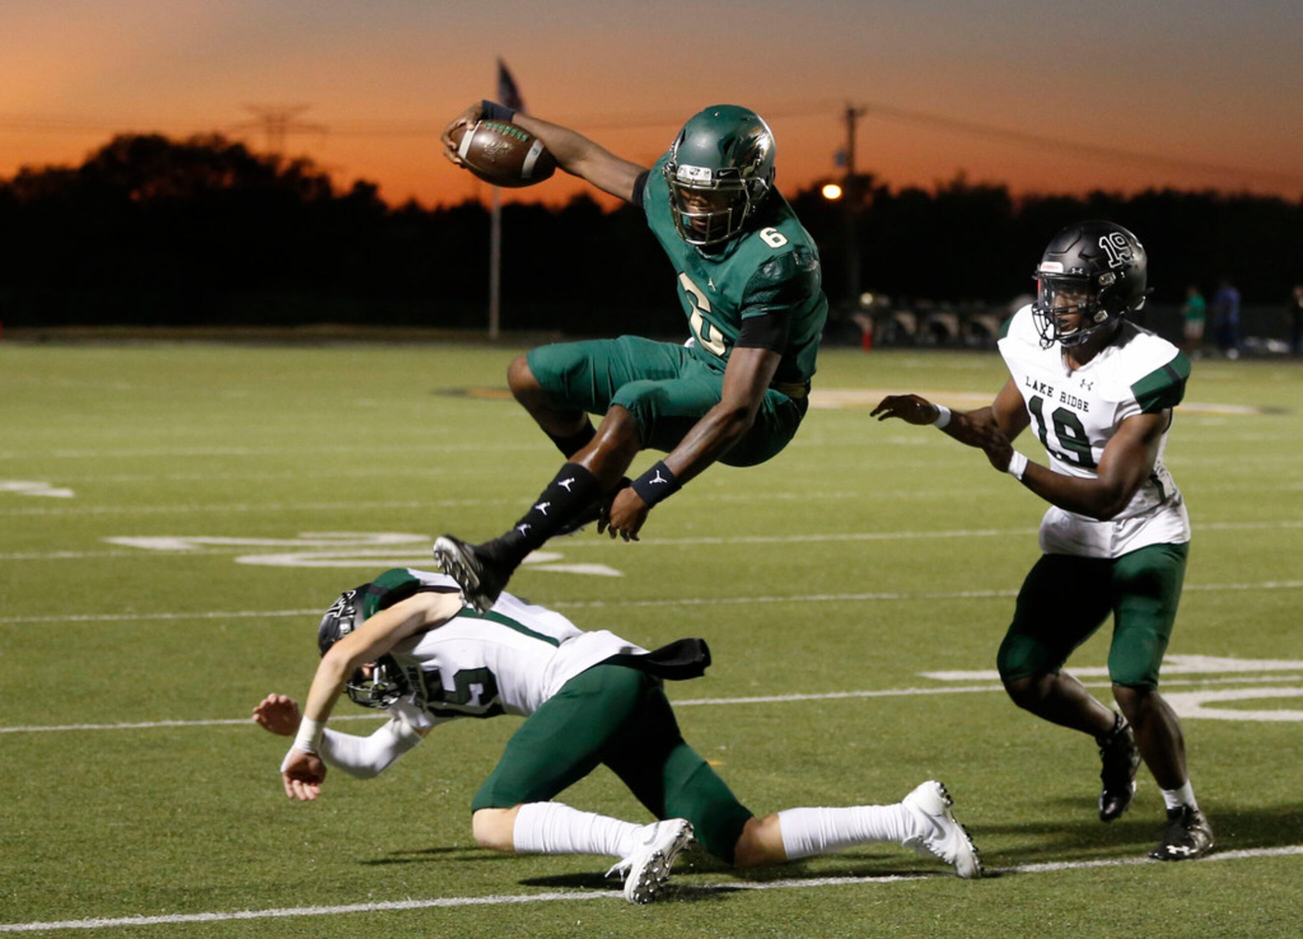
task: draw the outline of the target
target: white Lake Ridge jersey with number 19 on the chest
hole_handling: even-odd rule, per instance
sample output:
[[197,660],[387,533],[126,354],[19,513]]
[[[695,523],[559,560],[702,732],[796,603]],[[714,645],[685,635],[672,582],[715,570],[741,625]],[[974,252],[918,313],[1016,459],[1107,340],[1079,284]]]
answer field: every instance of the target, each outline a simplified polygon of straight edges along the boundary
[[[1031,305],[1014,314],[999,353],[1023,393],[1050,469],[1074,477],[1095,478],[1122,422],[1174,408],[1190,375],[1190,361],[1177,346],[1126,319],[1110,345],[1070,370],[1057,343],[1041,346]],[[1153,473],[1117,517],[1101,522],[1052,505],[1041,520],[1041,551],[1119,557],[1148,544],[1188,542],[1186,504],[1162,461],[1166,445],[1164,431]]]

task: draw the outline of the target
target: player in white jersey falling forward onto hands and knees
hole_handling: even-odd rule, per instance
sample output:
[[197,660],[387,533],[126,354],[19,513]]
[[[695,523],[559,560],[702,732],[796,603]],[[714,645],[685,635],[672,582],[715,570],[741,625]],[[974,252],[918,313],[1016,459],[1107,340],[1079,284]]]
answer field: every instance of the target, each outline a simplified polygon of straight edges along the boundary
[[[387,570],[343,594],[318,630],[322,660],[304,715],[281,694],[254,720],[293,736],[281,763],[285,794],[321,794],[327,764],[375,776],[455,718],[526,719],[472,802],[486,848],[545,854],[609,854],[620,861],[629,903],[655,899],[675,857],[696,837],[737,867],[760,867],[857,844],[898,841],[981,875],[945,787],[928,780],[894,805],[788,809],[756,818],[679,733],[662,679],[700,676],[701,639],[646,651],[606,630],[584,632],[558,612],[503,593],[483,613],[464,607],[443,574]],[[324,727],[347,690],[386,708],[369,737]],[[636,824],[551,801],[599,763],[661,822]]]

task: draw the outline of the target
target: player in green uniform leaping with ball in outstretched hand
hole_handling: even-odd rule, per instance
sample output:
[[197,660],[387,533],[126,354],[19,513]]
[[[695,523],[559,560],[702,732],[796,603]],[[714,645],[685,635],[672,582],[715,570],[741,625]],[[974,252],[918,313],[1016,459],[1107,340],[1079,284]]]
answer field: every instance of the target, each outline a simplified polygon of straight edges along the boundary
[[[511,363],[512,393],[567,462],[502,537],[435,542],[465,600],[486,610],[552,535],[595,520],[611,538],[637,539],[649,509],[710,464],[752,466],[786,447],[805,415],[827,300],[818,250],[774,189],[774,135],[758,115],[706,108],[650,169],[493,102],[444,130],[453,163],[451,132],[480,119],[519,124],[562,169],[642,208],[692,333],[685,345],[637,336],[549,345]],[[602,415],[599,427],[589,414]],[[645,448],[667,456],[629,482]]]

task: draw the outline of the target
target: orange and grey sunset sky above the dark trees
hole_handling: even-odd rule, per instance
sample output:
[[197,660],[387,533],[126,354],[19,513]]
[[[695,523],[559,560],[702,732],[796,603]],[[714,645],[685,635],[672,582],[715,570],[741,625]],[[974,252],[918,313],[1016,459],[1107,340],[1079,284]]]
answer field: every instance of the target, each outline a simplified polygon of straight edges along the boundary
[[76,164],[121,130],[261,150],[246,105],[309,105],[315,126],[285,151],[339,182],[390,202],[483,197],[438,130],[494,94],[498,56],[532,112],[648,164],[701,107],[752,107],[788,193],[840,172],[853,103],[859,168],[893,186],[964,172],[1015,193],[1303,197],[1300,0],[18,0],[0,4],[0,177]]

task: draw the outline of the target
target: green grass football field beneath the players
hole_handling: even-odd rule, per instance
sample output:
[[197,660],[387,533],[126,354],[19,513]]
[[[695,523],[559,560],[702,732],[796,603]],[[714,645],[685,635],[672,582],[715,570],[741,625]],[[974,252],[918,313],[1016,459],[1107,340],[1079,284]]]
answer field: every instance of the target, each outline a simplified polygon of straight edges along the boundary
[[[336,774],[321,802],[287,802],[284,741],[245,719],[268,692],[306,692],[317,611],[387,567],[429,567],[440,531],[496,534],[558,466],[513,402],[464,393],[503,388],[512,354],[0,345],[0,931],[1298,934],[1290,363],[1197,362],[1167,449],[1195,542],[1164,690],[1195,715],[1210,860],[1141,862],[1162,817],[1144,771],[1127,817],[1100,824],[1091,740],[989,676],[925,675],[994,668],[1044,507],[981,453],[864,405],[919,391],[977,406],[1003,382],[994,354],[829,350],[817,389],[860,393],[812,409],[779,458],[711,469],[641,543],[554,542],[512,590],[645,646],[709,638],[709,675],[671,698],[753,810],[890,802],[936,776],[999,876],[962,882],[890,845],[745,878],[693,852],[667,903],[631,908],[605,858],[474,845],[469,801],[513,718],[439,728],[378,780]],[[1106,632],[1074,664],[1102,666]],[[566,801],[645,819],[605,770]],[[358,910],[265,916],[313,906]]]

